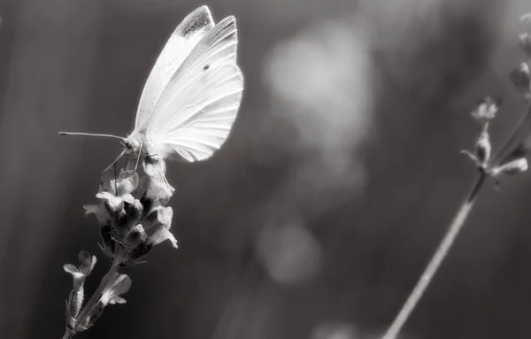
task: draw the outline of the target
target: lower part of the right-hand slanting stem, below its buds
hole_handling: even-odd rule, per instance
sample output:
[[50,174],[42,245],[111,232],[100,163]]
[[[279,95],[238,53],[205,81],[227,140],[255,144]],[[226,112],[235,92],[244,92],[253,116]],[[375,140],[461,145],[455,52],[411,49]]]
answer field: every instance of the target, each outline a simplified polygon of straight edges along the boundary
[[450,227],[446,232],[446,235],[444,235],[443,237],[443,241],[439,244],[439,248],[437,248],[437,250],[435,251],[433,258],[430,260],[429,264],[424,270],[424,273],[422,273],[422,275],[420,276],[420,279],[417,282],[415,288],[412,290],[411,295],[407,298],[407,301],[405,302],[404,306],[402,307],[398,315],[396,315],[395,320],[389,327],[386,334],[382,337],[382,339],[395,339],[396,335],[398,335],[398,333],[404,326],[405,321],[408,320],[415,306],[419,303],[420,297],[422,297],[422,295],[426,291],[428,284],[430,283],[430,281],[432,281],[435,273],[437,272],[437,269],[439,268],[439,266],[441,266],[441,263],[443,262],[444,258],[446,258],[451,245],[456,240],[459,231],[461,230],[461,228],[463,228],[463,225],[465,225],[465,221],[468,218],[470,211],[472,210],[473,204],[475,203],[478,193],[480,192],[481,186],[483,185],[483,182],[485,182],[486,178],[487,174],[484,171],[480,170],[480,176],[473,184],[473,187],[470,190],[466,201],[461,205],[461,208],[459,209],[456,217],[451,222]]

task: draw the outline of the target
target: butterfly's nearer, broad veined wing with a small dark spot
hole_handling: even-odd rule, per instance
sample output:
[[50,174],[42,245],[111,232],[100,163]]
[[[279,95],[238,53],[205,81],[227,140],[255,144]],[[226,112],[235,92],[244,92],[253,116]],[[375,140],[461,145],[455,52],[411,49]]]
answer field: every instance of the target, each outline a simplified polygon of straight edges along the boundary
[[234,17],[221,20],[197,43],[164,89],[147,137],[164,158],[210,158],[227,140],[242,100]]

